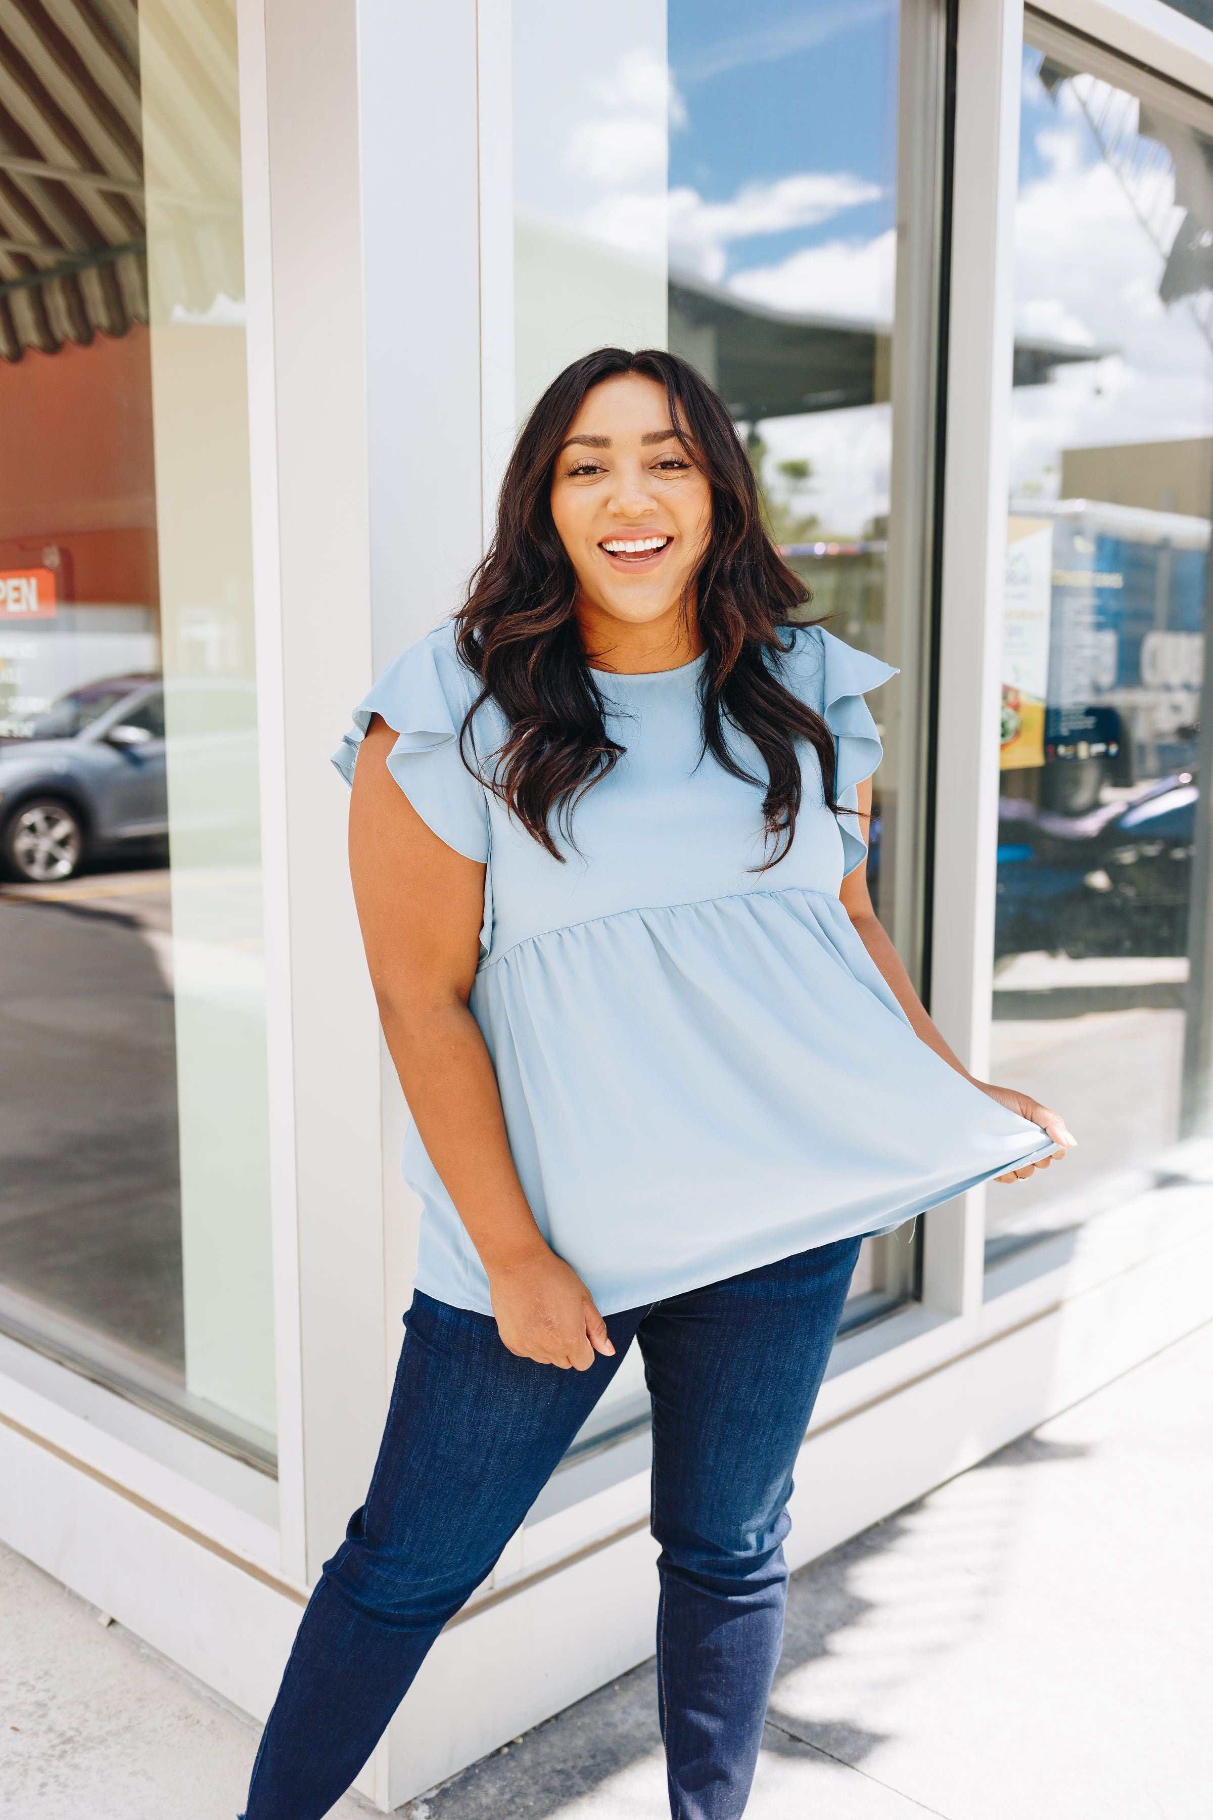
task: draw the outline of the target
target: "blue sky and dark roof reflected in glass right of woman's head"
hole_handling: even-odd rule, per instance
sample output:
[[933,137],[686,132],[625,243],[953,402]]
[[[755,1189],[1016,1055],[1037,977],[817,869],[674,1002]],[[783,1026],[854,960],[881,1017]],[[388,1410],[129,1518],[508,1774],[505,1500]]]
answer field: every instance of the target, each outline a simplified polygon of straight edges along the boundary
[[[895,0],[669,7],[669,346],[722,393],[813,617],[886,639]],[[886,717],[893,692],[873,699]],[[882,788],[869,881],[880,905]]]

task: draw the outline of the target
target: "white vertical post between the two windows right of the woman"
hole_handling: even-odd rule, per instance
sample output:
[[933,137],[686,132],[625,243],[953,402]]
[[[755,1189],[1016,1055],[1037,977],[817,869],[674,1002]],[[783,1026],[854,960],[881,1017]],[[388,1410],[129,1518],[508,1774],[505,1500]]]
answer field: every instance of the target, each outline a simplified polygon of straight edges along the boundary
[[[998,844],[1020,0],[960,0],[947,335],[931,1010],[984,1076]],[[929,1221],[924,1292],[975,1321],[984,1192]]]

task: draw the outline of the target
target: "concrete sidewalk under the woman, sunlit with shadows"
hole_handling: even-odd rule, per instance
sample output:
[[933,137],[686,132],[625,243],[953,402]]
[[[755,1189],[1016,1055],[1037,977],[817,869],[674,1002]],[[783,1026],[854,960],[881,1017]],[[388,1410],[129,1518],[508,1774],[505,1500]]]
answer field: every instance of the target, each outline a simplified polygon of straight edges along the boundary
[[[1209,1820],[1211,1534],[1206,1327],[797,1576],[747,1820]],[[11,1820],[231,1820],[256,1742],[4,1552],[0,1713]],[[667,1820],[651,1663],[404,1813]]]

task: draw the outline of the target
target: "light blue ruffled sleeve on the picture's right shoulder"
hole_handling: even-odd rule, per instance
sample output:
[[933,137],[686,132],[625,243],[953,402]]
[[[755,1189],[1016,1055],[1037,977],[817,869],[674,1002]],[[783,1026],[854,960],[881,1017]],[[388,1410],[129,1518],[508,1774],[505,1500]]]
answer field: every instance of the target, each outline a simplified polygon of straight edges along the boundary
[[858,784],[880,764],[884,748],[877,723],[864,693],[897,675],[891,664],[857,652],[824,626],[806,626],[797,633],[787,652],[787,684],[822,715],[835,735],[837,772],[835,797],[844,814],[838,817],[842,835],[842,870],[855,872],[867,857],[867,843],[860,834]]

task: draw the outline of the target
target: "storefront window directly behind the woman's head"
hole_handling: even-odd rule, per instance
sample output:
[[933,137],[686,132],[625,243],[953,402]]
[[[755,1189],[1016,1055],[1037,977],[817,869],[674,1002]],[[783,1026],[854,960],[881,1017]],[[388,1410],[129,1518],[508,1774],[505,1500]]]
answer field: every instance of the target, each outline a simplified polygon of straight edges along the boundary
[[[897,0],[516,0],[513,20],[516,420],[604,344],[669,348],[720,389],[807,612],[904,668],[873,697],[887,755],[869,875],[917,968],[922,844],[895,821],[922,737],[926,590],[891,612],[887,586]],[[847,1325],[913,1296],[915,1269],[906,1236],[867,1243]]]

